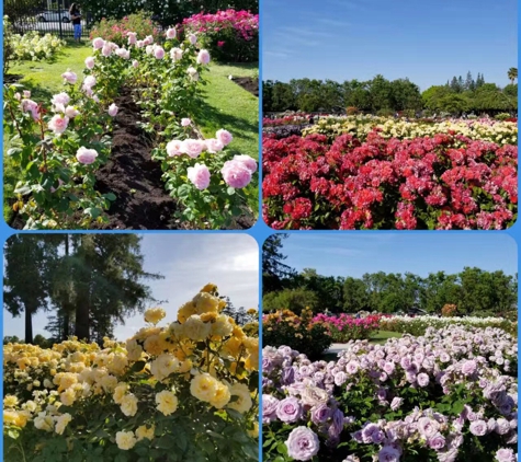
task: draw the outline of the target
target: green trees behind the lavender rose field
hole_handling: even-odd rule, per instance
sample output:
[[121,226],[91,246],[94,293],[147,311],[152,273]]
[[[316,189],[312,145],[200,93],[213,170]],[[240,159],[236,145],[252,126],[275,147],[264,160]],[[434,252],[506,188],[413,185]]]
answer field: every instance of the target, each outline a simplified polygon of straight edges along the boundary
[[518,275],[502,270],[486,272],[465,267],[457,274],[431,273],[420,277],[412,273],[371,273],[361,278],[321,276],[316,269],[301,273],[284,264],[282,241],[278,234],[264,244],[262,274],[264,312],[291,309],[299,312],[406,313],[420,309],[440,314],[445,304],[455,304],[461,315],[506,315],[517,311]]

